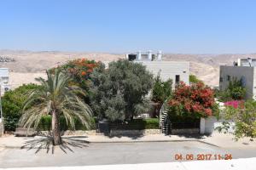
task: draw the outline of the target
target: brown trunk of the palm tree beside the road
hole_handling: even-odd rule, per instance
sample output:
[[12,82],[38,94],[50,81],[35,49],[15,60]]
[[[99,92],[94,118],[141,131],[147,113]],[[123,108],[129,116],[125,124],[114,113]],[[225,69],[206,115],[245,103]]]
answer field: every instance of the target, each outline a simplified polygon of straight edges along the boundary
[[51,127],[52,127],[52,135],[53,135],[53,144],[54,145],[62,144],[59,114],[56,111],[52,112]]

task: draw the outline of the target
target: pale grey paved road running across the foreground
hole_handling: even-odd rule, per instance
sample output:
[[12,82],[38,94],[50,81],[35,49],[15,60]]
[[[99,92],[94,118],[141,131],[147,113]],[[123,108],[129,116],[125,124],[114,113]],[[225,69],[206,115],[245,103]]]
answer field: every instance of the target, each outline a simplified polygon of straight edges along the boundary
[[[1,149],[0,167],[61,167],[103,164],[128,164],[176,161],[175,155],[182,154],[232,154],[233,158],[256,157],[250,149],[224,150],[200,142],[151,142],[83,144],[79,147],[55,148],[54,154],[46,149]],[[38,150],[38,153],[35,152]],[[65,153],[67,152],[67,153]],[[212,157],[213,158],[213,157]]]

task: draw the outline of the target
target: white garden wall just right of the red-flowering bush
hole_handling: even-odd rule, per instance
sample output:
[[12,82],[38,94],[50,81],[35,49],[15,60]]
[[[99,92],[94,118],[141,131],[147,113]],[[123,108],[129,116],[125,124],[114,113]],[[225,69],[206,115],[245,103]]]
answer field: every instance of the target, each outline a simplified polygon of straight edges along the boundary
[[[224,122],[224,119],[217,119],[215,116],[208,116],[207,118],[201,118],[201,122],[200,122],[200,133],[204,134],[204,133],[213,133],[214,129],[216,127],[220,127],[222,126],[222,122]],[[226,122],[226,121],[225,121]],[[228,129],[229,133],[233,133],[234,132],[234,122],[231,122],[231,127],[230,129]]]

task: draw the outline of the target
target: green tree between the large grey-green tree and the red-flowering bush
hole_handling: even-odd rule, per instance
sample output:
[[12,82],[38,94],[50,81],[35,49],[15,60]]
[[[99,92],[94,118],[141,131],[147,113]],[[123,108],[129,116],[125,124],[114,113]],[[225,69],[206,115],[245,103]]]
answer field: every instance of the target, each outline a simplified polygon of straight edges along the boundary
[[172,94],[172,79],[166,82],[160,79],[160,73],[154,79],[151,99],[155,103],[162,105],[165,100]]

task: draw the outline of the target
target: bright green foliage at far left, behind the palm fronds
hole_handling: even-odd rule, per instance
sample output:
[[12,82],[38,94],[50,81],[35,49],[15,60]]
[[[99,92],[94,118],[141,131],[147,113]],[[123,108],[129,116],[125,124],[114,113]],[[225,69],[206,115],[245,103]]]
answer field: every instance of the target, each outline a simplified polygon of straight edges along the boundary
[[14,131],[18,126],[22,105],[26,100],[26,94],[30,90],[39,89],[36,84],[23,84],[19,88],[5,92],[2,97],[4,128]]

